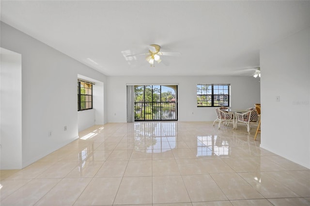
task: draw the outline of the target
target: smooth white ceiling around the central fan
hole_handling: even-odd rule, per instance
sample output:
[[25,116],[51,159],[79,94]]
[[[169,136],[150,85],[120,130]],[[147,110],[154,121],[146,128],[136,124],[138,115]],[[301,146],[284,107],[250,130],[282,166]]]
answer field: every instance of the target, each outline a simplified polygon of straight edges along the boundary
[[[261,48],[310,27],[310,1],[1,0],[1,21],[106,75],[248,75]],[[124,57],[149,44],[182,55]]]

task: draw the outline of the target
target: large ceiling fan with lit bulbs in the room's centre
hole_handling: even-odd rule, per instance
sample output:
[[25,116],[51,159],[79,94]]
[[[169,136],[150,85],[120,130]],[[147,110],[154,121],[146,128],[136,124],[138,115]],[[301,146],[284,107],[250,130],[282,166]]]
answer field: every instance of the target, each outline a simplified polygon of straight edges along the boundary
[[148,53],[143,54],[133,54],[127,55],[126,57],[130,56],[139,56],[139,55],[146,55],[146,61],[151,65],[151,67],[155,66],[155,62],[160,63],[162,61],[161,56],[180,56],[181,53],[179,52],[162,52],[160,51],[160,45],[151,44],[147,46],[149,49]]

